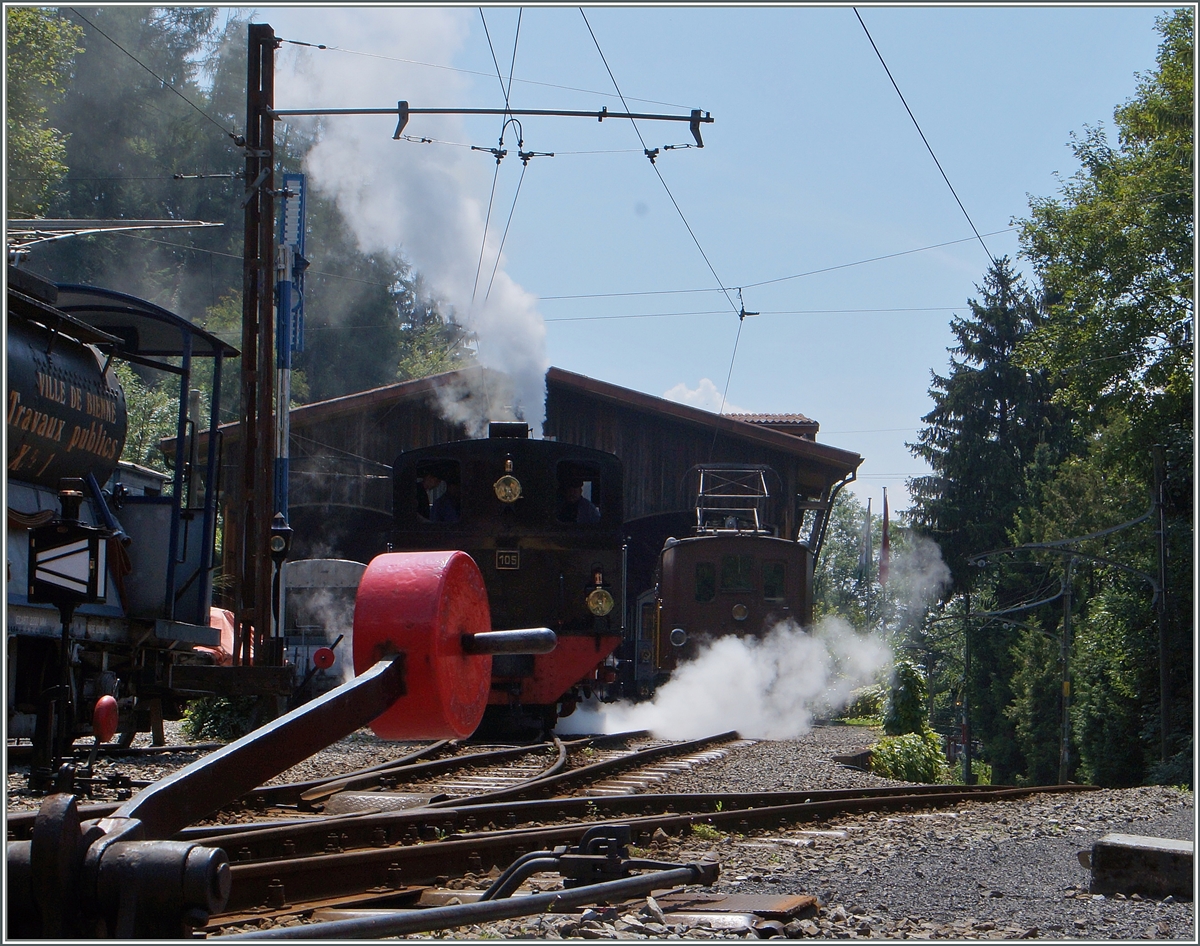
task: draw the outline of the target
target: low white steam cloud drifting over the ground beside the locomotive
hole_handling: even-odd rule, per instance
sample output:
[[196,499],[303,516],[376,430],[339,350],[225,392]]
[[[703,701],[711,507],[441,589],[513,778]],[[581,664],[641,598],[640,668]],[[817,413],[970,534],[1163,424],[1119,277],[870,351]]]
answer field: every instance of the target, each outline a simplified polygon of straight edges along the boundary
[[748,738],[796,738],[815,716],[847,705],[851,691],[874,682],[890,661],[887,645],[840,618],[822,621],[811,633],[787,621],[761,640],[719,637],[679,666],[653,700],[581,707],[557,731],[648,729],[685,740],[737,730]]

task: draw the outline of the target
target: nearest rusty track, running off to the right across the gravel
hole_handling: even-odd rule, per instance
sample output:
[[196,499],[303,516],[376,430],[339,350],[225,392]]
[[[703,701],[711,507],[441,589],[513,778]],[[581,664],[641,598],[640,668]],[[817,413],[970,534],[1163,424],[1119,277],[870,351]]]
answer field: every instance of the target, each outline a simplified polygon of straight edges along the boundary
[[[1054,791],[1055,789],[1049,789]],[[1062,789],[1078,790],[1078,786]],[[228,911],[216,933],[250,921],[277,922],[329,908],[407,908],[451,879],[486,885],[530,851],[578,844],[589,831],[624,828],[634,845],[659,831],[690,836],[698,825],[749,833],[838,814],[906,812],[1022,797],[1048,789],[906,786],[892,790],[749,795],[577,796],[368,812],[305,825],[247,825],[229,833],[198,828],[180,839],[221,846],[232,862]],[[635,854],[637,854],[635,848]],[[470,902],[469,892],[456,896]]]

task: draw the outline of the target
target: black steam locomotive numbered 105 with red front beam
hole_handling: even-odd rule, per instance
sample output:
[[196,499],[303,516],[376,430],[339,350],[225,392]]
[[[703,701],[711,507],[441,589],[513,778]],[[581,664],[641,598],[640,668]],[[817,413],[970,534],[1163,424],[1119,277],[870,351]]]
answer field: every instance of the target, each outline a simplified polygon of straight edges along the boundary
[[482,730],[548,730],[581,699],[617,695],[625,595],[616,456],[492,423],[486,439],[402,453],[392,485],[389,551],[468,552],[493,628],[558,635],[550,653],[493,658]]

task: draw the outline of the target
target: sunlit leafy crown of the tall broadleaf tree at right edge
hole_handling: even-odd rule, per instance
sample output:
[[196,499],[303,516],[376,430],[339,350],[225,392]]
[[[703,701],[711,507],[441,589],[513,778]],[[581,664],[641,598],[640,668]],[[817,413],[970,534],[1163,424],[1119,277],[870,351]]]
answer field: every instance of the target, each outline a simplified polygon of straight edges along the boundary
[[1055,371],[1056,399],[1100,421],[1116,412],[1154,429],[1189,413],[1193,16],[1158,20],[1158,70],[1116,109],[1117,146],[1087,128],[1074,140],[1080,170],[1021,221],[1024,252],[1054,300],[1021,358]]

